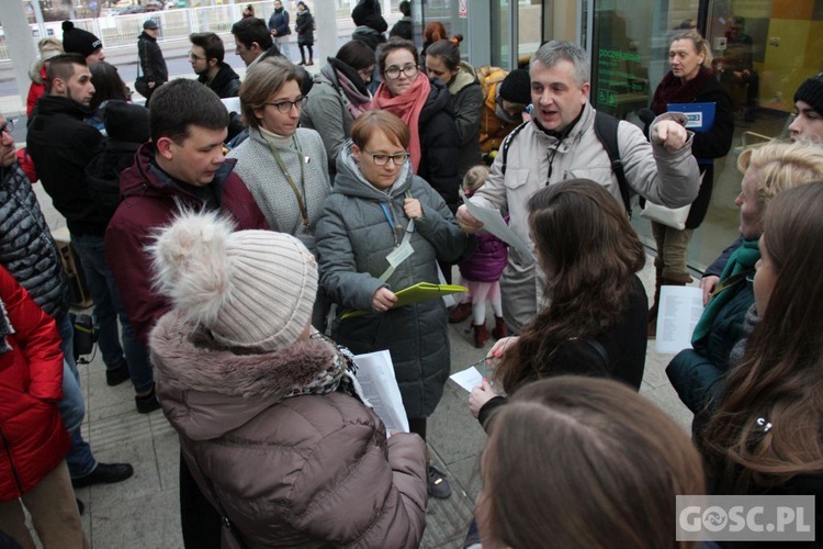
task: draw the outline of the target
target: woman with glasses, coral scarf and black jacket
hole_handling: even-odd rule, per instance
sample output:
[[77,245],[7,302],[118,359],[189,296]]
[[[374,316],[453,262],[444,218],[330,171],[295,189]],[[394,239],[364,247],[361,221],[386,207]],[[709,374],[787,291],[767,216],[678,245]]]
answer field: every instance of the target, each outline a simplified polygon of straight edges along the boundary
[[388,111],[406,123],[412,169],[440,193],[454,213],[460,194],[460,134],[449,107],[451,94],[441,81],[420,71],[418,65],[417,47],[412,42],[392,40],[384,44],[379,59],[383,81],[374,93],[372,108]]

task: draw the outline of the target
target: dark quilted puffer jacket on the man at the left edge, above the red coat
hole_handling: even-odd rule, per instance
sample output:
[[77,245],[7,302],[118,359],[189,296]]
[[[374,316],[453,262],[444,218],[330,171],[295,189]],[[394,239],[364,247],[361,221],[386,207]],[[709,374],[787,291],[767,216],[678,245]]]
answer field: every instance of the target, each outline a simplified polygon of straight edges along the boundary
[[16,164],[0,168],[0,265],[48,315],[68,311],[66,274],[37,197]]

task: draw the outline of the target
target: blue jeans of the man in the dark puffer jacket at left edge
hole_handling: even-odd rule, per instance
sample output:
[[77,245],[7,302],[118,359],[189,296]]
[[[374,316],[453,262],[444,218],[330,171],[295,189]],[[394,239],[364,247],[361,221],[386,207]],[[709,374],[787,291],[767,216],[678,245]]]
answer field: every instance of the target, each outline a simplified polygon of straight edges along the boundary
[[98,467],[98,460],[91,453],[89,442],[83,440],[80,425],[86,417],[86,403],[80,391],[80,377],[75,362],[74,338],[75,328],[68,313],[57,318],[57,330],[60,333],[60,347],[65,360],[63,361],[63,400],[57,403],[60,418],[66,429],[71,435],[71,448],[66,456],[66,463],[72,479],[91,474]]

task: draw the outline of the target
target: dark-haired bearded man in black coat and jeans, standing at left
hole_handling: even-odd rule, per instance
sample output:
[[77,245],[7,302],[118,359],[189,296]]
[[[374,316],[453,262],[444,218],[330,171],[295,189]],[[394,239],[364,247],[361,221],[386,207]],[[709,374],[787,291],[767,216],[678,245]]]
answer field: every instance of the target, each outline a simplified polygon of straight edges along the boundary
[[82,55],[64,54],[50,59],[47,80],[49,92],[37,102],[37,113],[29,124],[29,154],[43,188],[66,217],[71,244],[80,256],[100,324],[98,345],[106,367],[106,383],[116,385],[131,378],[137,411],[148,413],[160,406],[151,363],[128,322],[105,260],[103,236],[109,219],[86,179],[86,166],[103,142],[102,134],[84,123],[94,96],[91,72]]

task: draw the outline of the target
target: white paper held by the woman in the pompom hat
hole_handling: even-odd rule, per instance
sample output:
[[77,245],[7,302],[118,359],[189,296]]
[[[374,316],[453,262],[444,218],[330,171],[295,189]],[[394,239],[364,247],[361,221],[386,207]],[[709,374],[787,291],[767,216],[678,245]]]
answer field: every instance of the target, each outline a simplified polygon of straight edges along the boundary
[[354,357],[358,365],[357,378],[363,390],[363,396],[374,407],[386,426],[386,433],[399,430],[408,433],[408,417],[406,408],[403,407],[401,389],[397,386],[397,378],[394,376],[392,356],[387,350],[358,355]]

